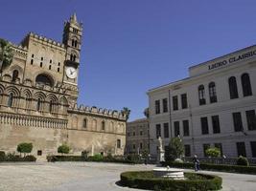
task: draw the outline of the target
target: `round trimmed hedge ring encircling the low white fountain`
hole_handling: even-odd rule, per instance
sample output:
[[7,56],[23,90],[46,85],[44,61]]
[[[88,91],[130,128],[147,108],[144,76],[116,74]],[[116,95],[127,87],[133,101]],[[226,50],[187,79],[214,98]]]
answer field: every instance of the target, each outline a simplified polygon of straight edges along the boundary
[[187,180],[154,178],[152,171],[133,171],[121,174],[121,184],[140,189],[166,191],[220,190],[222,179],[218,176],[184,173]]

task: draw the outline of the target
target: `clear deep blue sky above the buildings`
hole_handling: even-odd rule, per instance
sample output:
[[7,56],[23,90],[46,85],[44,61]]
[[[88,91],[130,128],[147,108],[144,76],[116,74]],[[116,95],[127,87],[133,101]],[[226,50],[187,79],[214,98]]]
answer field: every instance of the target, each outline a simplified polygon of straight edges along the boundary
[[131,120],[144,117],[149,89],[256,43],[254,0],[1,0],[0,37],[60,42],[74,11],[83,23],[79,103],[128,107]]

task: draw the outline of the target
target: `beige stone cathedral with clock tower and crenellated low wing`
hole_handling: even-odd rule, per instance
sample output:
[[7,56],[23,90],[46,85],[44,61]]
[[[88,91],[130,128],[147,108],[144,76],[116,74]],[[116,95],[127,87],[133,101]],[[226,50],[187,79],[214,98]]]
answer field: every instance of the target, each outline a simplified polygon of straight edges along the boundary
[[74,155],[124,154],[125,114],[77,104],[81,35],[74,14],[62,43],[30,32],[19,46],[12,44],[12,64],[0,79],[0,150],[33,142],[32,154],[43,159],[66,143]]

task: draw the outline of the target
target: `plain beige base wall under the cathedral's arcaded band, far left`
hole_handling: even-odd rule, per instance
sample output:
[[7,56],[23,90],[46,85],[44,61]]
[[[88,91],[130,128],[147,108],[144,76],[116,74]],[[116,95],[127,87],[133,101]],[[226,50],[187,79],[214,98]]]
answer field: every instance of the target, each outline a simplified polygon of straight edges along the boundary
[[43,158],[48,154],[56,154],[58,145],[66,141],[67,130],[58,128],[42,128],[14,124],[0,125],[0,150],[7,153],[16,152],[21,142],[32,142],[32,155],[37,157],[37,150],[42,151]]

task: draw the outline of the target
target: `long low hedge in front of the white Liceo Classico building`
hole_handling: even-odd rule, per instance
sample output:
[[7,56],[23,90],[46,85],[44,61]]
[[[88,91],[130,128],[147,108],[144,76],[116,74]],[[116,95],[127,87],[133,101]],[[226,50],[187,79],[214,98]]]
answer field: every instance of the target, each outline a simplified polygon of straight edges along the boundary
[[[194,163],[192,162],[162,162],[163,166],[170,166],[176,168],[194,168]],[[227,164],[209,164],[200,163],[201,170],[214,170],[228,173],[241,173],[241,174],[256,174],[255,166],[239,166],[239,165],[227,165]]]

